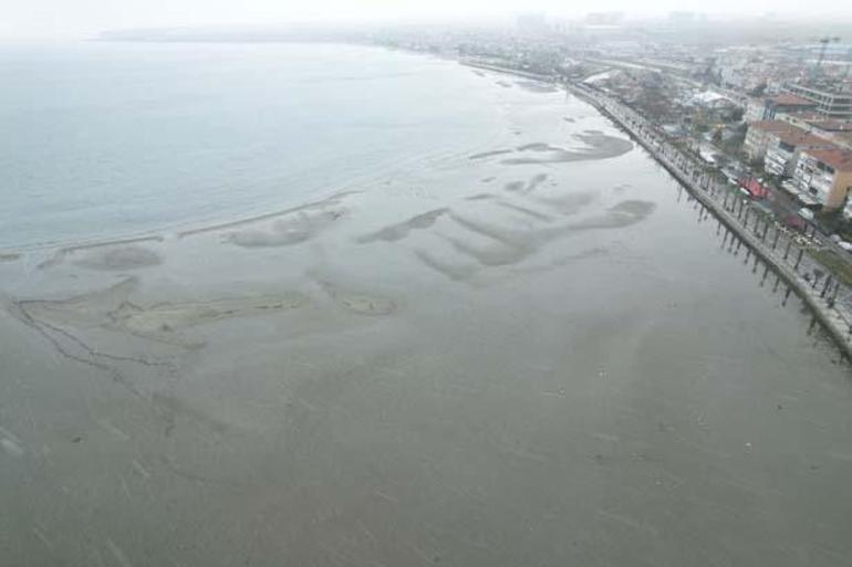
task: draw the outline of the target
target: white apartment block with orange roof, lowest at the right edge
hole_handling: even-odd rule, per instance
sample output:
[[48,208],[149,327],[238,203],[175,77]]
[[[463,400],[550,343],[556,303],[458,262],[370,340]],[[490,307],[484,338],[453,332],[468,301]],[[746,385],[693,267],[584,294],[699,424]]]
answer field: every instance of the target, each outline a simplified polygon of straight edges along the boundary
[[825,209],[840,209],[852,188],[852,151],[841,148],[803,150],[796,164],[793,182]]

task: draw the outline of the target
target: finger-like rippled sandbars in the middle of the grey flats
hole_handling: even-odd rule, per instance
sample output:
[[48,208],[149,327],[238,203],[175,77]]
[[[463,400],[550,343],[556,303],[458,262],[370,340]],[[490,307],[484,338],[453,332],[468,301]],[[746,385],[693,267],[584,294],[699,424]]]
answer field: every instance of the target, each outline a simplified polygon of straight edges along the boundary
[[[531,150],[546,148],[536,146]],[[655,209],[653,202],[628,199],[594,210],[599,192],[540,191],[548,180],[547,174],[537,174],[527,180],[510,181],[503,186],[503,195],[468,197],[458,207],[426,211],[360,237],[356,242],[407,245],[426,267],[454,282],[464,282],[484,271],[520,264],[555,239],[636,224]],[[613,195],[620,192],[612,189]],[[408,239],[415,242],[406,242]],[[593,251],[571,254],[567,261],[581,261],[601,252],[595,246]],[[560,262],[554,261],[557,264]]]

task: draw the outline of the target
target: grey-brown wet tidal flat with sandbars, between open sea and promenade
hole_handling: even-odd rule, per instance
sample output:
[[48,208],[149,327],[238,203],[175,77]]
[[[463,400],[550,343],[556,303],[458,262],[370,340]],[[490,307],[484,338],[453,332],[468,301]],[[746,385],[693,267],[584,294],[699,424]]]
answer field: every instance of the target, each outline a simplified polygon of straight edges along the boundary
[[482,82],[497,149],[0,263],[2,565],[852,560],[831,343],[588,106]]

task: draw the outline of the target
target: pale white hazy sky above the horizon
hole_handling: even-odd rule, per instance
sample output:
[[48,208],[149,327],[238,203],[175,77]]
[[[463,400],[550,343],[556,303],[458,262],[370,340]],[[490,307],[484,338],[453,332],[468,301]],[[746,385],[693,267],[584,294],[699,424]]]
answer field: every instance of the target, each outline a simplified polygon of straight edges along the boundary
[[582,15],[623,10],[852,15],[849,0],[0,0],[0,38],[69,38],[142,27],[287,23],[293,21],[432,21],[546,11]]

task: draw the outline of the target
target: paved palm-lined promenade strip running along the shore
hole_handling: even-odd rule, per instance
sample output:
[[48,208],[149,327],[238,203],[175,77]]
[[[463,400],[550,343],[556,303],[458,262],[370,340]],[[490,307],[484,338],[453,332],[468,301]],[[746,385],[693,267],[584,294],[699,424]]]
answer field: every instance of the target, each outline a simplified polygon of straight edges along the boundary
[[[693,164],[688,157],[671,146],[663,146],[658,137],[655,138],[646,134],[654,130],[653,126],[646,120],[632,111],[622,108],[619,103],[603,98],[603,95],[574,85],[570,85],[569,90],[593,105],[645,148],[705,209],[716,217],[737,239],[745,243],[756,258],[759,258],[768,267],[771,267],[787,283],[787,295],[790,292],[794,292],[810,308],[814,318],[831,335],[843,355],[848,359],[852,359],[852,334],[850,333],[852,326],[850,326],[848,317],[844,317],[844,314],[837,308],[834,302],[840,284],[834,285],[834,293],[832,294],[827,293],[832,288],[830,276],[827,276],[824,285],[813,285],[812,282],[806,280],[803,274],[799,272],[799,262],[804,253],[803,249],[798,249],[790,255],[791,243],[788,241],[785,255],[780,256],[780,252],[777,252],[778,249],[776,248],[780,228],[777,224],[775,225],[776,238],[769,239],[772,242],[770,248],[770,244],[767,243],[770,221],[766,221],[762,233],[756,230],[760,222],[759,220],[755,222],[755,228],[750,231],[748,222],[751,209],[748,206],[744,207],[742,201],[737,201],[736,199],[730,199],[732,209],[729,208],[727,191],[720,190],[715,186],[709,176],[702,176],[698,166]],[[668,156],[665,154],[666,149],[669,153]],[[723,196],[724,199],[721,199]],[[739,212],[737,212],[736,202],[740,203]],[[746,209],[745,222],[742,221],[744,208]],[[797,259],[793,266],[787,263],[788,258]]]

